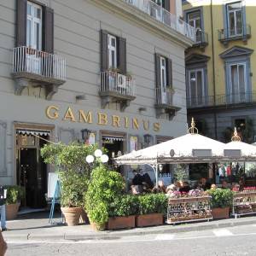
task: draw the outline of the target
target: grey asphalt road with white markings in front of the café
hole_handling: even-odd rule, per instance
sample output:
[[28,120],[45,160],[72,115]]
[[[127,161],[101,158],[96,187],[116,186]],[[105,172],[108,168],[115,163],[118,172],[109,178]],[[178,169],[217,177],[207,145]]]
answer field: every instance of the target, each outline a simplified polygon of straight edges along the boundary
[[7,256],[256,256],[256,224],[91,241],[8,241]]

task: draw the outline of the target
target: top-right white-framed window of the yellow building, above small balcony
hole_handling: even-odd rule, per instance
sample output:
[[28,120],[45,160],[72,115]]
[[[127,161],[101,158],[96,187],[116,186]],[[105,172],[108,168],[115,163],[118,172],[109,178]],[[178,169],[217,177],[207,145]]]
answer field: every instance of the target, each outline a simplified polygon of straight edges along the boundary
[[227,4],[228,32],[230,37],[243,32],[241,2]]

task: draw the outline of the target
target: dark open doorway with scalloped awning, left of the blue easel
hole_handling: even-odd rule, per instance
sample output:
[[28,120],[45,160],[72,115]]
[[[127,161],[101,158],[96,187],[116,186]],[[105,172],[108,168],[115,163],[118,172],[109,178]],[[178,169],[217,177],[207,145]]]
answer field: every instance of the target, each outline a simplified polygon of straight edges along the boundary
[[49,132],[16,131],[16,183],[25,188],[24,207],[45,207],[47,166],[40,155],[44,139],[49,139]]

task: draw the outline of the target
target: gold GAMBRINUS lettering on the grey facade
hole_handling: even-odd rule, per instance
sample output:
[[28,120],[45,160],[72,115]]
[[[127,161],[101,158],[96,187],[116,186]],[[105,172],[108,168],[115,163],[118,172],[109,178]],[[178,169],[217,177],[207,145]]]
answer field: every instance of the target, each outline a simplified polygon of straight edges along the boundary
[[[49,119],[59,119],[60,118],[60,108],[56,106],[49,106],[46,108],[46,116]],[[86,123],[92,124],[94,122],[93,115],[91,111],[84,112],[84,110],[79,109],[78,112],[74,112],[72,108],[68,107],[62,120],[69,121],[73,123]],[[108,116],[107,113],[97,112],[96,125],[112,125],[113,127],[125,129],[131,127],[134,130],[143,129],[148,131],[150,129],[150,122],[148,120],[139,120],[137,118],[120,117],[119,115]],[[153,123],[152,129],[154,131],[160,131],[160,124]]]

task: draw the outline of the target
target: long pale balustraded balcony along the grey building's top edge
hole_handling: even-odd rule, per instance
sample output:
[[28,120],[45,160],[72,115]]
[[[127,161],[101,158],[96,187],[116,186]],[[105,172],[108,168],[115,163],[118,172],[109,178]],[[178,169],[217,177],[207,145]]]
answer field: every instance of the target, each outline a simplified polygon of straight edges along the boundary
[[195,28],[150,0],[123,0],[195,42]]

